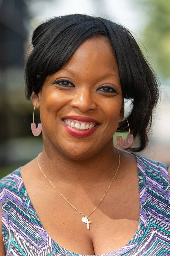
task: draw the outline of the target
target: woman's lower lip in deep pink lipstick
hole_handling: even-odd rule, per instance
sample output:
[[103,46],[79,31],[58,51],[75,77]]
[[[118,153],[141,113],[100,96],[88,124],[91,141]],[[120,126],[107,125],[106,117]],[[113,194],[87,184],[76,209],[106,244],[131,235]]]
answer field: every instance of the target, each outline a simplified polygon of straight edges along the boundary
[[[65,117],[66,118],[66,117]],[[72,119],[72,118],[70,118]],[[77,119],[76,119],[77,120]],[[94,120],[94,119],[92,119]],[[80,120],[77,120],[77,121],[80,121]],[[82,121],[82,120],[81,120]],[[84,120],[85,122],[85,120]],[[88,122],[88,121],[87,121]],[[94,121],[92,121],[94,122]],[[63,121],[63,124],[64,124],[64,128],[66,129],[66,131],[68,133],[70,133],[71,135],[73,135],[74,137],[77,137],[77,138],[85,138],[85,137],[89,137],[90,135],[92,135],[95,130],[97,129],[97,127],[99,126],[99,123],[94,126],[93,128],[91,129],[88,129],[88,130],[76,130],[74,129],[73,127],[71,126],[68,126],[68,124],[66,124],[64,121]]]

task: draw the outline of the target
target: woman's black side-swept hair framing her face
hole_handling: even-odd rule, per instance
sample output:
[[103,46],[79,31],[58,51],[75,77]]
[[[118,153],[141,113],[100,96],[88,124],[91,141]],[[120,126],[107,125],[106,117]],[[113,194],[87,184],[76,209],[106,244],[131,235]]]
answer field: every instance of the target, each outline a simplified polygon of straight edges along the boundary
[[[33,33],[33,50],[26,69],[26,97],[38,93],[46,76],[60,70],[87,38],[103,35],[110,40],[119,68],[123,97],[131,99],[127,117],[138,144],[131,151],[142,151],[148,144],[152,115],[159,97],[157,79],[132,34],[123,26],[100,17],[72,14],[54,17],[39,25]],[[123,119],[118,132],[127,132]]]

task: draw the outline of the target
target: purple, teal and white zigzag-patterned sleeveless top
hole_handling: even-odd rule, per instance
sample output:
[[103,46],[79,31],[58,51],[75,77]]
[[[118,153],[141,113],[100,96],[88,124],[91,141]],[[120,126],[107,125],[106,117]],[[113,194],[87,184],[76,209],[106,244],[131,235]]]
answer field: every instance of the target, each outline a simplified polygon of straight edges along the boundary
[[[140,191],[138,229],[124,247],[102,256],[170,255],[170,183],[167,168],[159,162],[134,155],[138,164]],[[25,190],[20,168],[0,181],[0,203],[6,255],[81,255],[58,245],[43,228]]]

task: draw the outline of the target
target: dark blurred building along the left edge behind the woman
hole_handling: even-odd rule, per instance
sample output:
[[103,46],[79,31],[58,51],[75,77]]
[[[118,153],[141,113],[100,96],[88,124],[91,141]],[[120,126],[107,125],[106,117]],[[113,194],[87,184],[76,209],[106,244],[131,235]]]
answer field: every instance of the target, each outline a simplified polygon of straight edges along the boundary
[[[23,0],[0,1],[0,162],[9,164],[11,139],[29,134],[25,125],[24,53],[27,32]],[[29,113],[29,112],[28,112]],[[31,118],[31,116],[30,116]],[[29,114],[26,114],[26,120]]]

